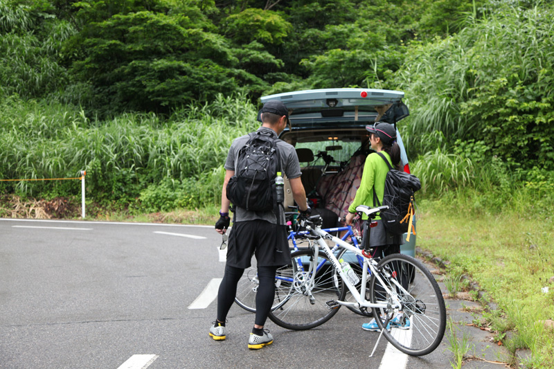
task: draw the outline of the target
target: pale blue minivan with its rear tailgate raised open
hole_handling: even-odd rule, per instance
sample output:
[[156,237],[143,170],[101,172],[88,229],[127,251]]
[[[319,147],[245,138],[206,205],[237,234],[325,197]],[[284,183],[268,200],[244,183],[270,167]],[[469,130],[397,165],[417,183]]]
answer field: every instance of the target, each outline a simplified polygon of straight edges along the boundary
[[[373,152],[366,125],[376,121],[395,125],[409,115],[402,91],[380,89],[316,89],[262,96],[280,100],[289,109],[290,125],[280,138],[296,148],[302,183],[312,208],[343,217],[359,187],[366,156]],[[397,130],[404,172],[409,162]],[[286,206],[292,193],[285,185]],[[415,224],[414,224],[415,226]],[[415,235],[401,252],[415,256]]]

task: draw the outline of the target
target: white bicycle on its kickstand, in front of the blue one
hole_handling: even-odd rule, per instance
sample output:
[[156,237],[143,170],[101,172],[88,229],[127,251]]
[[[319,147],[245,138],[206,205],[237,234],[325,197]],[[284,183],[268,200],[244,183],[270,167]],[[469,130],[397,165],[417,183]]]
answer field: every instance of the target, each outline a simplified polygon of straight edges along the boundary
[[[385,208],[356,208],[368,215],[366,232]],[[304,222],[309,231],[306,237],[314,242],[308,249],[294,251],[292,265],[280,269],[281,287],[288,294],[270,312],[271,321],[290,330],[307,330],[325,323],[345,305],[373,313],[381,330],[375,348],[383,335],[395,348],[413,356],[429,354],[438,347],[446,327],[445,301],[436,280],[420,261],[400,253],[375,260],[368,249],[358,249],[322,231],[319,216]],[[361,258],[361,276],[350,280],[324,240],[348,250],[343,255]],[[346,289],[352,294],[350,301],[345,300]]]

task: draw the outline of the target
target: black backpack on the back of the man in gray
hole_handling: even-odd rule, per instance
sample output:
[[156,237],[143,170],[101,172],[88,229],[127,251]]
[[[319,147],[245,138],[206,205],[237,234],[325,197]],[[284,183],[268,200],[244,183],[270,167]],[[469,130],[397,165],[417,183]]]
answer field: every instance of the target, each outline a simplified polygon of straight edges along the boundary
[[274,210],[275,177],[281,172],[278,140],[261,132],[249,136],[249,141],[238,153],[237,172],[227,183],[227,199],[233,205],[251,211]]

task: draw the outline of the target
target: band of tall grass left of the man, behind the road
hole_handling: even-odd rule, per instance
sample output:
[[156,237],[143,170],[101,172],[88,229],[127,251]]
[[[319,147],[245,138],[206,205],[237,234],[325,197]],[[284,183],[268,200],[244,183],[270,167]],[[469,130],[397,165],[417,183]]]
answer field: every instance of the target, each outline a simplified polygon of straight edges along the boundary
[[[0,106],[0,177],[75,177],[87,170],[92,198],[134,201],[166,179],[193,192],[191,206],[220,196],[223,163],[233,138],[259,125],[247,96],[218,96],[164,120],[154,114],[123,114],[98,122],[53,102],[10,98]],[[192,184],[191,184],[192,183]],[[71,183],[3,183],[21,195],[67,195]]]

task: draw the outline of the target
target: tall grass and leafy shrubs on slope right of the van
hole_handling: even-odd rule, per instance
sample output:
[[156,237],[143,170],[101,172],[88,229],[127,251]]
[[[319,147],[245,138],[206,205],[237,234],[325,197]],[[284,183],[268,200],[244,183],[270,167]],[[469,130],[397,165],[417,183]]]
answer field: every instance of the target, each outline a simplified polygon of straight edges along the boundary
[[440,131],[449,145],[483,140],[504,160],[553,168],[553,18],[551,2],[502,5],[456,35],[413,42],[395,75],[411,108],[409,152],[425,154],[421,136]]

